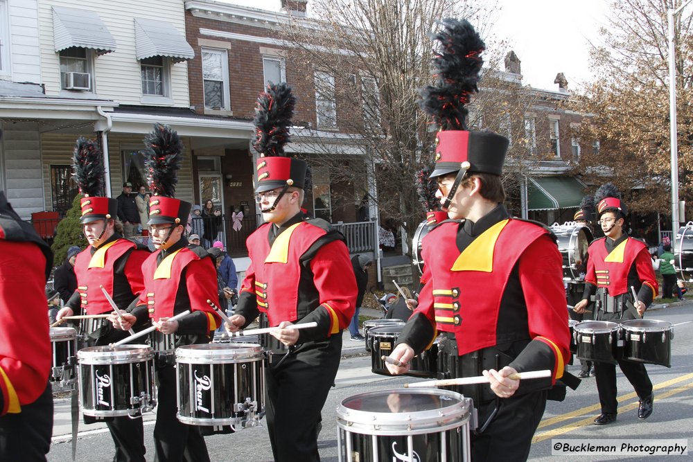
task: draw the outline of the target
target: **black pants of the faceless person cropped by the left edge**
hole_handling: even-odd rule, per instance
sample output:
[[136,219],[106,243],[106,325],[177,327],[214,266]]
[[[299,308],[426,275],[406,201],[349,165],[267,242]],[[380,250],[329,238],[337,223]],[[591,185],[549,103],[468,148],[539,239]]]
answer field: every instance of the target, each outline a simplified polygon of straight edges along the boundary
[[0,417],[0,461],[45,461],[53,435],[51,385],[19,414]]

